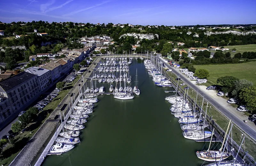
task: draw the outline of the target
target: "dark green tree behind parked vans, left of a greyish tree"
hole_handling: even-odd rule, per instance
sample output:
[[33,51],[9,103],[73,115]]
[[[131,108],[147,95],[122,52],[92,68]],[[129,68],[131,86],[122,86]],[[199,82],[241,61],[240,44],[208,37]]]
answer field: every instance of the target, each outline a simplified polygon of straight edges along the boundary
[[217,83],[220,83],[223,87],[221,90],[225,93],[230,93],[235,88],[235,81],[239,79],[233,76],[224,76],[217,79]]

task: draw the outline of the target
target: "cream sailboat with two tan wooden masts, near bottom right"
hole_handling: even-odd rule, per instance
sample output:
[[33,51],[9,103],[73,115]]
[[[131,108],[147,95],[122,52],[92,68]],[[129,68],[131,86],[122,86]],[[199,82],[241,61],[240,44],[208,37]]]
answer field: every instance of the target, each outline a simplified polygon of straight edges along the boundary
[[[209,161],[209,162],[214,162],[214,161],[216,162],[216,161],[220,161],[220,159],[225,160],[230,155],[232,155],[231,153],[228,153],[228,152],[224,152],[222,154],[222,148],[223,148],[223,145],[225,143],[225,139],[228,140],[227,133],[228,133],[230,122],[231,122],[231,119],[229,120],[228,128],[227,128],[227,131],[226,131],[226,134],[225,134],[225,137],[224,137],[224,140],[222,142],[220,150],[210,150],[210,146],[211,146],[211,142],[212,142],[212,138],[211,138],[208,150],[204,150],[204,151],[201,151],[201,152],[198,152],[198,151],[196,152],[196,155],[197,155],[198,158],[200,158],[202,160],[205,160],[205,161]],[[214,131],[214,129],[213,129],[213,131]]]

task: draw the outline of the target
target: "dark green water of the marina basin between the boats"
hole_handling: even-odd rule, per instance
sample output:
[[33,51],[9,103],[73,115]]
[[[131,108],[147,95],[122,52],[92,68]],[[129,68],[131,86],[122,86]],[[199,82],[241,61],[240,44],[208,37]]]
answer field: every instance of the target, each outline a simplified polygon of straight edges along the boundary
[[[81,143],[60,156],[47,156],[43,166],[203,164],[195,152],[208,145],[183,137],[179,119],[164,100],[164,90],[173,89],[155,86],[140,60],[130,66],[133,81],[138,69],[140,96],[125,101],[113,95],[98,96],[81,131]],[[105,87],[108,91],[109,86]]]

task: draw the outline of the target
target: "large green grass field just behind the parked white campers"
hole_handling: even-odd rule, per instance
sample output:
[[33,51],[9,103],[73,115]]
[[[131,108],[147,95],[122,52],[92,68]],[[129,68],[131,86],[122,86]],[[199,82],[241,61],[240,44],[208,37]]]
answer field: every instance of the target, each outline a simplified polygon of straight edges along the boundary
[[210,72],[207,78],[210,84],[217,84],[217,79],[223,76],[233,76],[238,79],[247,79],[256,85],[256,62],[243,64],[214,64],[214,65],[194,65],[196,69],[206,69]]

